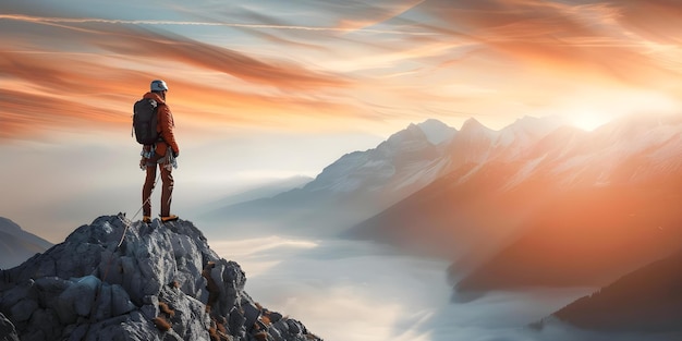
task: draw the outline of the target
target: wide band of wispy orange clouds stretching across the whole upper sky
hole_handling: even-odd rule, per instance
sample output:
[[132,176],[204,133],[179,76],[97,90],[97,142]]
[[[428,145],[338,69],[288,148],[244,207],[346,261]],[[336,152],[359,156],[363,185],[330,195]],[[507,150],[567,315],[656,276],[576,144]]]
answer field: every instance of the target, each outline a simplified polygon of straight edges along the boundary
[[[59,117],[96,98],[122,124],[161,77],[174,108],[198,121],[268,126],[501,119],[520,113],[500,113],[504,103],[549,110],[585,84],[682,96],[672,0],[171,1],[148,17],[132,5],[3,4],[3,88],[45,98],[34,106]],[[53,99],[62,103],[47,107]]]

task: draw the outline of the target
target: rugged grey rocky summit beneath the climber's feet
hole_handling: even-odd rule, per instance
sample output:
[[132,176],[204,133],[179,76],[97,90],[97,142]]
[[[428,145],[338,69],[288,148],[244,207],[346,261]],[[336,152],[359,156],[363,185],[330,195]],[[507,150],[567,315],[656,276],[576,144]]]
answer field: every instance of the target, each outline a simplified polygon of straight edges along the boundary
[[321,340],[245,282],[190,221],[103,216],[0,271],[0,340]]

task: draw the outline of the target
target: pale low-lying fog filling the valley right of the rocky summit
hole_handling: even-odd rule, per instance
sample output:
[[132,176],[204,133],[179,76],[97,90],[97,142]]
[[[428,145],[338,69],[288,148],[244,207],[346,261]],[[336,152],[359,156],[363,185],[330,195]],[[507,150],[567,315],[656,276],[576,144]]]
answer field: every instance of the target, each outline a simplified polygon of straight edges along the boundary
[[527,327],[590,288],[495,292],[453,303],[447,261],[385,245],[276,235],[209,241],[221,257],[242,266],[254,300],[327,341],[643,340],[558,324]]

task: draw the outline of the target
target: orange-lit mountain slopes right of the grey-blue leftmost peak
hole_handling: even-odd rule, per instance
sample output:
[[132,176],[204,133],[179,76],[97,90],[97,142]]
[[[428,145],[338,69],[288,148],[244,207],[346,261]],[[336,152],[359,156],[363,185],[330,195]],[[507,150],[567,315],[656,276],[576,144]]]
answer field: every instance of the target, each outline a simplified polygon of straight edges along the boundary
[[346,235],[450,257],[462,291],[605,284],[682,243],[680,117],[516,123],[468,121],[449,173]]

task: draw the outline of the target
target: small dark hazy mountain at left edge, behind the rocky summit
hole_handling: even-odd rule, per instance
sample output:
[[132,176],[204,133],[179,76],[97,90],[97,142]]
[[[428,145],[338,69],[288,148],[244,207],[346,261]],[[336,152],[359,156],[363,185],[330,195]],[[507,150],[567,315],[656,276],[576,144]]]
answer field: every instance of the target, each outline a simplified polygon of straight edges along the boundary
[[0,268],[15,267],[51,246],[50,242],[22,230],[12,220],[0,217]]

